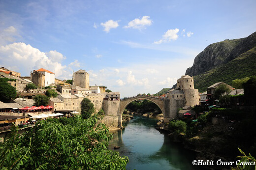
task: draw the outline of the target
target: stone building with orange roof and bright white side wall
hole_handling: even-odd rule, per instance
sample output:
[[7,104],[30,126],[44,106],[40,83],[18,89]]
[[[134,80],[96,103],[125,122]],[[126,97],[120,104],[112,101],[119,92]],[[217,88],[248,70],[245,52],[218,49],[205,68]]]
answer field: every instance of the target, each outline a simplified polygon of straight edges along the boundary
[[44,68],[33,70],[31,74],[31,81],[39,88],[43,88],[49,85],[55,85],[55,74]]

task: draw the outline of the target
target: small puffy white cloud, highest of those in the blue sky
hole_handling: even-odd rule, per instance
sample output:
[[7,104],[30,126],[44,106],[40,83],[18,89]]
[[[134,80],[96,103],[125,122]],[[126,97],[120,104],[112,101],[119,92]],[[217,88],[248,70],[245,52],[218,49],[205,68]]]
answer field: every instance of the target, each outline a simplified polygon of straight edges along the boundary
[[145,26],[150,26],[153,23],[153,21],[149,18],[149,16],[143,16],[141,19],[135,18],[128,23],[128,26],[125,26],[124,28],[143,29]]

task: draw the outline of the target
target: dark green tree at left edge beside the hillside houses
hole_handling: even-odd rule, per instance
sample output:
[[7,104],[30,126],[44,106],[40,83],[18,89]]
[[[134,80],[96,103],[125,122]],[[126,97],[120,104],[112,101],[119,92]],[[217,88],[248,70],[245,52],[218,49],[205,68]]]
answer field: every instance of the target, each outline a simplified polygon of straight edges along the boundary
[[17,95],[16,88],[9,85],[7,82],[8,79],[0,78],[0,101],[2,102],[8,102]]

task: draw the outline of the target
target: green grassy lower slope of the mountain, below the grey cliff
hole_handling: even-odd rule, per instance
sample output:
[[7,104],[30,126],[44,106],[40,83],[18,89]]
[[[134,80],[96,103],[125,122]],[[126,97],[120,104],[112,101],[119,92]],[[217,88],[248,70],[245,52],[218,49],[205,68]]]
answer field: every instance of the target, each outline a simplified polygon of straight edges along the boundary
[[217,82],[232,85],[232,80],[256,75],[256,47],[243,53],[228,63],[194,76],[194,87],[199,92]]

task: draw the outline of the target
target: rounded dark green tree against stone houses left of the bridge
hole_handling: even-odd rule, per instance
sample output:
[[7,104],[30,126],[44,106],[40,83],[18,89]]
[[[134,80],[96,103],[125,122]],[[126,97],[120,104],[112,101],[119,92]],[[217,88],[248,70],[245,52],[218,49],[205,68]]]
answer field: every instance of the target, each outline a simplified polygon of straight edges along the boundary
[[88,119],[94,113],[94,104],[91,100],[84,98],[81,102],[81,115],[84,119]]

